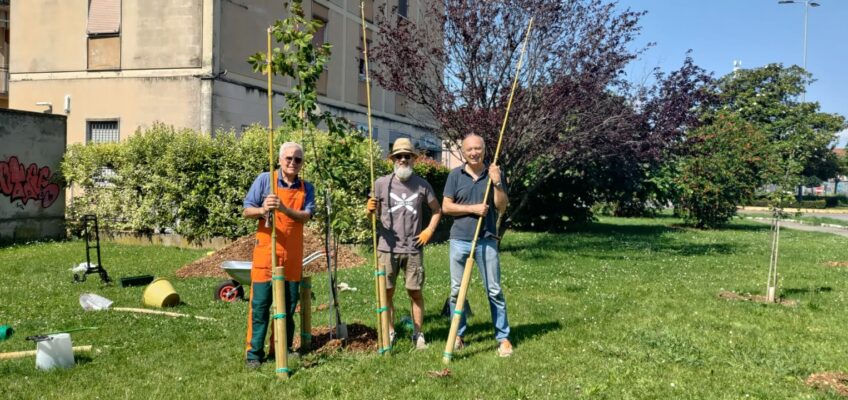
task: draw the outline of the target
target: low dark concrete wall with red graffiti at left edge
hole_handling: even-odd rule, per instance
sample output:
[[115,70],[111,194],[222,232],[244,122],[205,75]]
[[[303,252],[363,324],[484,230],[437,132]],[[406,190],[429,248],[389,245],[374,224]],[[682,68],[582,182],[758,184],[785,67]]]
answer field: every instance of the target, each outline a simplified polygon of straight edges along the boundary
[[65,128],[63,116],[0,110],[0,240],[64,235],[65,194],[53,180]]

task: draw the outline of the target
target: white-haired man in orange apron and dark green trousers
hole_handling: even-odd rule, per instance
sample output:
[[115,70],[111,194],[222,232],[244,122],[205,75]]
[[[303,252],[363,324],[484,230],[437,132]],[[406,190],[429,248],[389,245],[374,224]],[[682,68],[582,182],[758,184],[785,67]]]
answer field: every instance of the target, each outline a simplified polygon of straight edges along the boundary
[[[303,168],[303,147],[294,142],[280,146],[280,169],[273,176],[263,172],[244,198],[245,218],[258,219],[253,267],[250,270],[250,310],[247,315],[246,366],[256,368],[265,359],[265,335],[268,332],[273,291],[271,284],[271,223],[277,230],[277,265],[284,267],[286,303],[286,346],[294,338],[294,311],[303,276],[303,224],[315,210],[314,187],[298,177]],[[276,182],[272,187],[271,182]],[[273,191],[272,189],[273,188]],[[269,194],[270,192],[270,194]],[[273,211],[273,213],[272,213]],[[272,332],[273,337],[273,332]],[[273,339],[270,353],[273,353]]]

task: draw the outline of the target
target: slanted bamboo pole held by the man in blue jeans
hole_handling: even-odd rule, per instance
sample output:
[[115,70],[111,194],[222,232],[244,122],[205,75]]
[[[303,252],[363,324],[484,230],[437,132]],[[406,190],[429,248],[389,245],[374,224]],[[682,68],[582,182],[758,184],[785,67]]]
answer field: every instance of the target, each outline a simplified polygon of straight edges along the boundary
[[[503,133],[506,130],[506,122],[509,119],[509,110],[512,108],[512,98],[515,95],[515,88],[518,86],[518,75],[521,72],[521,64],[524,61],[524,52],[527,50],[527,42],[530,39],[530,29],[533,27],[533,18],[527,23],[527,33],[524,35],[524,44],[521,46],[521,54],[518,56],[518,64],[515,66],[515,78],[512,80],[512,89],[509,92],[509,100],[506,103],[506,113],[504,113],[503,123],[501,123],[501,131],[498,134],[498,145],[495,148],[495,155],[492,159],[492,165],[498,164],[498,156],[501,152],[501,143],[503,141]],[[483,202],[486,203],[489,199],[489,191],[492,188],[492,180],[486,180],[486,191],[483,194]],[[445,351],[442,355],[442,362],[449,363],[453,356],[453,346],[456,342],[457,331],[459,330],[459,322],[462,319],[463,308],[465,305],[465,297],[468,294],[468,283],[471,281],[471,269],[474,266],[474,254],[477,252],[477,239],[480,236],[480,227],[483,225],[485,215],[477,218],[477,228],[474,230],[474,239],[471,241],[471,254],[465,260],[465,269],[462,272],[462,284],[459,287],[459,295],[456,298],[455,309],[453,310],[453,318],[451,318],[451,328],[448,333],[448,340],[445,343]]]

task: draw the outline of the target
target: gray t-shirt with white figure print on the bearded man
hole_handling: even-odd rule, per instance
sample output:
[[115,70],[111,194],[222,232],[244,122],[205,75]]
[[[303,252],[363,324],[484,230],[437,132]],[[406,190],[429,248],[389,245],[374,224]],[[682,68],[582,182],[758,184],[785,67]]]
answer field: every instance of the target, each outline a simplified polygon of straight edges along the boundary
[[420,249],[414,238],[422,230],[424,207],[436,200],[433,187],[418,175],[401,182],[395,174],[390,174],[374,182],[374,193],[380,203],[377,250],[418,253]]

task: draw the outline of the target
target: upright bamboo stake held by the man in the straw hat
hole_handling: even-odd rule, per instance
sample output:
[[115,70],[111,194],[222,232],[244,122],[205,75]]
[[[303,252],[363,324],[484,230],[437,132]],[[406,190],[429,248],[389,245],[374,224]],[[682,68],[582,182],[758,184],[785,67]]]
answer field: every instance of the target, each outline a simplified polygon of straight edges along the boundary
[[[362,57],[365,61],[365,98],[368,105],[368,158],[371,162],[371,193],[374,193],[374,131],[371,128],[371,76],[368,72],[368,34],[365,31],[365,2],[359,2],[362,26]],[[381,354],[391,354],[389,308],[386,296],[386,271],[377,260],[377,213],[371,214],[371,240],[374,247],[374,289],[377,297],[377,338]]]

